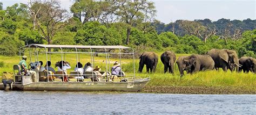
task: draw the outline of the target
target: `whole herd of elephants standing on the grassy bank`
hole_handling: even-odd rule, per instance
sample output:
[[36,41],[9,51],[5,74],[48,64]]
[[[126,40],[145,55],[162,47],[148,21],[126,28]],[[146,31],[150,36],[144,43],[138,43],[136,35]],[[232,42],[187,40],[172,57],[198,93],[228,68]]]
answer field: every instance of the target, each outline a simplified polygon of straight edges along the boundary
[[[139,59],[139,73],[142,72],[144,64],[146,64],[147,73],[149,73],[149,70],[153,73],[156,71],[158,63],[156,53],[144,52]],[[224,71],[228,69],[235,71],[235,68],[237,68],[237,71],[256,73],[256,59],[246,56],[238,59],[237,52],[229,49],[211,49],[204,55],[180,56],[177,60],[174,52],[166,51],[161,54],[160,59],[164,64],[164,73],[169,71],[169,73],[174,74],[174,66],[177,64],[180,76],[184,75],[184,70],[192,74],[197,71],[219,70],[219,68]]]

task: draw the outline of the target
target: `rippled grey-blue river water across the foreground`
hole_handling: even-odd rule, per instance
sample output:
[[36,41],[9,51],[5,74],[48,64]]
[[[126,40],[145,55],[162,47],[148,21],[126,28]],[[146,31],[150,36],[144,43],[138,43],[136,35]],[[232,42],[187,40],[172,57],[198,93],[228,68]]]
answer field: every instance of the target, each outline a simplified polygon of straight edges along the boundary
[[256,95],[0,91],[0,114],[256,114]]

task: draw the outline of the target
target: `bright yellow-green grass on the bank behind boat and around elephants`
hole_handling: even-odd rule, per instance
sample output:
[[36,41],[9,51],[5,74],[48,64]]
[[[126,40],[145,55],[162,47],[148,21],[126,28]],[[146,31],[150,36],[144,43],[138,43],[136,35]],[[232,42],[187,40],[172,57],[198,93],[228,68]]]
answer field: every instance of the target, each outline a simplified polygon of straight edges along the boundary
[[[178,67],[174,68],[174,75],[164,74],[164,65],[160,61],[160,54],[156,73],[147,74],[146,67],[144,67],[142,73],[137,73],[139,67],[139,59],[135,60],[135,71],[136,76],[145,78],[150,77],[151,81],[147,84],[148,86],[213,86],[213,87],[243,87],[245,89],[256,88],[256,74],[253,73],[236,73],[236,72],[224,72],[220,71],[201,71],[196,74],[185,74],[183,77],[179,77]],[[28,55],[28,54],[26,54]],[[176,54],[177,56],[189,55],[189,54]],[[49,56],[49,55],[48,55]],[[34,56],[32,56],[34,57]],[[45,55],[40,55],[39,60],[42,60],[45,64],[46,59]],[[66,55],[66,61],[71,63],[72,71],[76,65],[76,55]],[[178,57],[177,57],[178,58]],[[34,58],[32,58],[35,60]],[[29,60],[27,62],[29,63]],[[48,58],[49,60],[49,58]],[[54,67],[55,62],[61,60],[60,54],[51,55],[52,66]],[[103,62],[104,60],[104,62]],[[114,61],[119,61],[119,59],[110,59],[110,66],[113,65]],[[0,76],[2,76],[3,71],[9,71],[12,73],[12,66],[19,62],[19,56],[2,56],[0,55]],[[80,62],[85,64],[86,62],[91,62],[90,55],[80,55]],[[122,59],[122,68],[126,74],[133,74],[133,60],[131,59]],[[105,71],[105,55],[100,55],[95,57],[95,66],[99,65],[102,68],[102,71]],[[108,64],[107,64],[108,65]],[[57,68],[55,68],[57,70]],[[109,69],[109,67],[107,68]]]

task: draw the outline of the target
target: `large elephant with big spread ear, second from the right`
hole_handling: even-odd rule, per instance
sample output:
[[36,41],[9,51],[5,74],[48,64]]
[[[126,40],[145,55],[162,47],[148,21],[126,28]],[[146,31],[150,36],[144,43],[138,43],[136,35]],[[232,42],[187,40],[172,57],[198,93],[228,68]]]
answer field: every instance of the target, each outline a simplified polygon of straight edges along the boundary
[[211,49],[207,52],[215,62],[215,68],[222,68],[224,71],[230,69],[234,70],[234,67],[238,68],[241,66],[238,62],[237,52],[229,50],[229,49]]

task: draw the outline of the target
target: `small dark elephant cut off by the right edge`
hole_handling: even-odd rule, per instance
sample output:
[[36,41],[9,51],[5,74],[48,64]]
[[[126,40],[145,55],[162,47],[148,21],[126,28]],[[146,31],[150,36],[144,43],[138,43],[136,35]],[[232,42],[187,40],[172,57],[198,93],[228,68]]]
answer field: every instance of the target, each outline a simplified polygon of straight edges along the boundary
[[243,56],[239,59],[239,64],[242,65],[239,67],[239,71],[243,70],[244,73],[248,73],[250,70],[251,72],[256,73],[256,59]]

